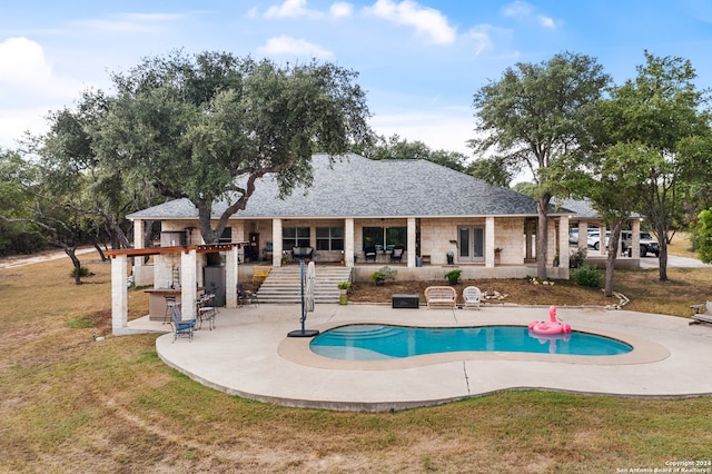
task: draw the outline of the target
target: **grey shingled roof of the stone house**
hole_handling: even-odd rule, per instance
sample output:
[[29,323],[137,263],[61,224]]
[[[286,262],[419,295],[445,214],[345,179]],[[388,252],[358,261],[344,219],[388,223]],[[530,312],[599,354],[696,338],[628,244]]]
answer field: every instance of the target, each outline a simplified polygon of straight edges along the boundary
[[[296,187],[279,199],[274,176],[256,184],[245,210],[234,218],[296,217],[447,217],[536,215],[536,201],[507,188],[490,186],[469,175],[426,160],[370,160],[345,155],[329,160],[315,155],[314,184]],[[227,208],[212,207],[214,216]],[[571,214],[550,208],[551,214]],[[134,213],[134,219],[197,218],[188,199]]]

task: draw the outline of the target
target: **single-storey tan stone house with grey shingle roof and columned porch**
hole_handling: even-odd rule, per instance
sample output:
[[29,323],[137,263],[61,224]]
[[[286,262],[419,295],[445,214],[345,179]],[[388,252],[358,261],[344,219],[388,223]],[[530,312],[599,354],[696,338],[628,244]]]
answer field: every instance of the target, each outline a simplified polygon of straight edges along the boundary
[[[386,264],[398,266],[403,279],[442,279],[447,271],[444,267],[452,265],[463,270],[465,279],[536,274],[537,204],[528,196],[426,160],[315,155],[313,167],[312,186],[297,187],[284,199],[276,179],[265,176],[246,208],[229,219],[219,243],[228,246],[220,259],[228,274],[226,287],[250,278],[253,263],[290,265],[295,248],[309,248],[317,266],[350,267],[354,280],[368,278],[374,265]],[[216,219],[226,206],[214,205]],[[572,213],[563,207],[551,207],[548,213],[547,275],[568,278]],[[154,255],[150,266],[136,259],[137,285],[160,288],[180,279],[184,288],[188,284],[195,292],[204,284],[200,268],[210,264],[211,250],[201,245],[198,211],[189,200],[165,203],[128,218],[134,221],[137,244],[142,241],[146,223],[160,221],[161,226],[160,247],[141,249],[137,245],[112,253],[117,257]],[[396,247],[403,249],[402,259],[392,263]],[[122,286],[117,285],[116,290]],[[235,303],[229,293],[228,306]]]

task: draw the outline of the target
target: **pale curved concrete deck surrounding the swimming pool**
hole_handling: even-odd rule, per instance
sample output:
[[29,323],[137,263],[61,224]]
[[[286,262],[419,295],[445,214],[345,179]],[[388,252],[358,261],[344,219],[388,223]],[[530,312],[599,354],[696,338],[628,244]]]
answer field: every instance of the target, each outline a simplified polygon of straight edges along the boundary
[[[605,357],[516,353],[448,353],[349,363],[313,354],[299,329],[298,305],[220,309],[217,328],[192,342],[172,334],[156,340],[161,359],[189,377],[246,398],[286,406],[388,411],[431,406],[498,391],[541,388],[631,397],[712,394],[712,326],[690,319],[603,308],[560,307],[574,330],[623,339],[626,355]],[[393,309],[389,305],[317,305],[307,329],[352,323],[413,326],[523,325],[546,319],[545,307],[485,306],[468,309]],[[145,318],[136,329],[167,326]]]

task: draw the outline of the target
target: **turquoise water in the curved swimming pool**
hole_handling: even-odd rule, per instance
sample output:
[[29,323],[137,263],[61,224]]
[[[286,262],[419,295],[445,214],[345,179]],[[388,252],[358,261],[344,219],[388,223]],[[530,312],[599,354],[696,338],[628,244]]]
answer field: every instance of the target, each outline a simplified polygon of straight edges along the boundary
[[611,356],[633,347],[594,334],[541,335],[526,326],[406,327],[355,324],[326,330],[310,348],[339,361],[383,361],[449,352],[517,352]]

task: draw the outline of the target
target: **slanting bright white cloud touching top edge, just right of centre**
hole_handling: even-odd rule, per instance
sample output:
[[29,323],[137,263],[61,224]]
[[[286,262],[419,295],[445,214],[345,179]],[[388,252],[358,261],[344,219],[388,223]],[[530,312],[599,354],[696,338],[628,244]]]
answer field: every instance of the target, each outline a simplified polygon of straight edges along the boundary
[[423,7],[411,0],[404,0],[400,3],[377,0],[366,11],[396,24],[413,27],[417,34],[427,37],[437,45],[453,43],[456,38],[456,30],[449,26],[447,17],[438,10]]

